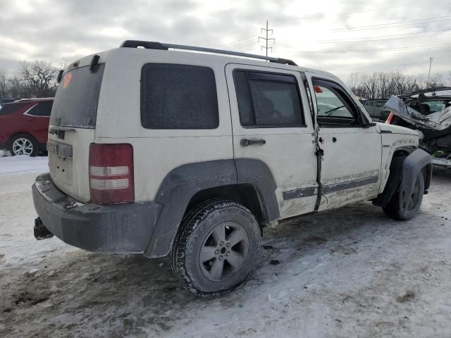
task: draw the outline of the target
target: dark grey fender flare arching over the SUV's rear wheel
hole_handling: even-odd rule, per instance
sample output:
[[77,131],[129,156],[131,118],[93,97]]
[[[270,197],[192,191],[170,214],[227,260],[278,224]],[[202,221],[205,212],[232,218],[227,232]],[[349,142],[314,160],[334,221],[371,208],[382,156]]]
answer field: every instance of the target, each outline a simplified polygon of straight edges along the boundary
[[264,219],[279,217],[276,183],[266,163],[242,158],[180,165],[171,170],[160,184],[154,201],[163,206],[154,220],[152,236],[144,256],[166,256],[192,196],[204,189],[231,184],[252,184],[259,195]]

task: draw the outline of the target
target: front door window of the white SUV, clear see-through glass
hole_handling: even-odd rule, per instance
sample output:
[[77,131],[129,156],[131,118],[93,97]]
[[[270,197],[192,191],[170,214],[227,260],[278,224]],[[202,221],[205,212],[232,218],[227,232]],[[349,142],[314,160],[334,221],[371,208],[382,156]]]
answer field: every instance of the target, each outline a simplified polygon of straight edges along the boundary
[[338,84],[313,79],[319,125],[359,125],[359,114],[352,100]]

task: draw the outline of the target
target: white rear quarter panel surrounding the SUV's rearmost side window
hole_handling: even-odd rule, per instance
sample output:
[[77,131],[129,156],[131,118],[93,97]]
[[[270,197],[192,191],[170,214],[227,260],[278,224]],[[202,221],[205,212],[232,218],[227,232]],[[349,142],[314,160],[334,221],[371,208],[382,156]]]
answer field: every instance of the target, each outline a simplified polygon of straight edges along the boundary
[[[202,65],[213,69],[219,126],[210,130],[151,130],[142,127],[140,77],[145,63]],[[123,48],[109,54],[99,97],[95,142],[132,144],[135,201],[153,200],[164,177],[180,165],[233,158],[224,66],[223,62],[204,54],[186,52]]]

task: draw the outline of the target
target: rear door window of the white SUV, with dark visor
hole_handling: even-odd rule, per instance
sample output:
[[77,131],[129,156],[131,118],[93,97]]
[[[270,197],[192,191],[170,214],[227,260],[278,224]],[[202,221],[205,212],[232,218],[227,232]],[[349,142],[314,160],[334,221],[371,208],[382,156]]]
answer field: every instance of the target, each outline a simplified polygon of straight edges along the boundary
[[301,99],[294,76],[235,70],[233,80],[243,127],[304,125]]

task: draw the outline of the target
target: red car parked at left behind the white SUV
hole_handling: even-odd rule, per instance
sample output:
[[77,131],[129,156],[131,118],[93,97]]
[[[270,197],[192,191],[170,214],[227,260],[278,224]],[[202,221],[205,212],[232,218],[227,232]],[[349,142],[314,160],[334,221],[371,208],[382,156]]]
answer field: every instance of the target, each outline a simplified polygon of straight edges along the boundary
[[53,98],[22,99],[0,108],[0,149],[11,155],[37,156],[46,151]]

